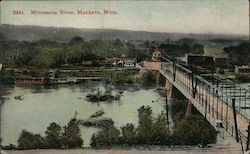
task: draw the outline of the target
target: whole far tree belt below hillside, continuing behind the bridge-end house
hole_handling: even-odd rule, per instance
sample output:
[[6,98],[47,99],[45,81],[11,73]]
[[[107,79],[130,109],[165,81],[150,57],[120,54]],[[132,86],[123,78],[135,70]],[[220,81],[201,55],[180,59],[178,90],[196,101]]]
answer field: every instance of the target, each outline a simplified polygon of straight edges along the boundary
[[204,46],[192,39],[175,42],[84,40],[79,36],[69,42],[49,40],[16,41],[0,35],[1,57],[5,67],[55,68],[63,64],[79,65],[83,61],[106,58],[136,58],[138,62],[152,57],[155,48],[164,49],[166,54],[182,56],[184,53],[203,53]]

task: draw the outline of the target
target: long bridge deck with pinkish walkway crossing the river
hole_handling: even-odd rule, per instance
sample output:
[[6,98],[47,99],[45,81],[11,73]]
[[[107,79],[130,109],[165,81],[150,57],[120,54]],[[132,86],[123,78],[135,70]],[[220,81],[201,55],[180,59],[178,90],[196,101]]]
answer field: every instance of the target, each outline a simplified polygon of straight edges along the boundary
[[163,63],[160,73],[189,99],[215,128],[217,122],[221,121],[222,129],[234,137],[236,136],[233,114],[235,100],[239,137],[244,141],[247,140],[250,112],[242,112],[237,99],[226,95],[224,91],[201,76],[194,75],[190,70],[173,62]]

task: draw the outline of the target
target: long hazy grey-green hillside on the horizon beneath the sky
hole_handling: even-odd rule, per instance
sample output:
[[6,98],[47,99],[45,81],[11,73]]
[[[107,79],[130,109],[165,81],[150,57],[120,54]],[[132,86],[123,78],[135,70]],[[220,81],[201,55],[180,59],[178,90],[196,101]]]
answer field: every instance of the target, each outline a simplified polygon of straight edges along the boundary
[[39,26],[17,26],[3,24],[0,27],[1,33],[11,40],[34,41],[40,39],[67,42],[74,36],[84,39],[105,39],[105,40],[178,40],[180,38],[192,38],[198,40],[209,40],[216,38],[224,39],[247,39],[246,36],[219,35],[219,34],[186,34],[186,33],[159,33],[146,31],[129,31],[116,29],[77,29]]

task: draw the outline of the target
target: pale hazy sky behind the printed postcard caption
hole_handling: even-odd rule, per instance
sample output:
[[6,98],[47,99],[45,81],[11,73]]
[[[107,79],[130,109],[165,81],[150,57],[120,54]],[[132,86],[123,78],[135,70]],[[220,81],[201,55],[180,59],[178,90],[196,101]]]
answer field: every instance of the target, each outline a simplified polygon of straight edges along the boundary
[[[16,15],[13,11],[24,14]],[[31,14],[57,11],[57,15]],[[62,15],[60,10],[73,11]],[[101,14],[77,14],[97,10]],[[117,14],[103,14],[103,10]],[[2,1],[1,24],[249,35],[248,0]]]

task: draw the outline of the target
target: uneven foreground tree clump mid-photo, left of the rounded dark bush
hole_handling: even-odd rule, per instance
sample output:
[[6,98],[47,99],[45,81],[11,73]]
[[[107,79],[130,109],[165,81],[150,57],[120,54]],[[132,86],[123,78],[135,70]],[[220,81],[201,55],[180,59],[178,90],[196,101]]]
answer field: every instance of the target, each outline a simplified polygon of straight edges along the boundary
[[170,143],[171,135],[165,113],[154,118],[151,107],[142,106],[138,109],[138,118],[138,127],[129,123],[121,127],[121,132],[113,124],[102,127],[100,132],[92,136],[91,146],[107,148],[117,145],[166,145]]

